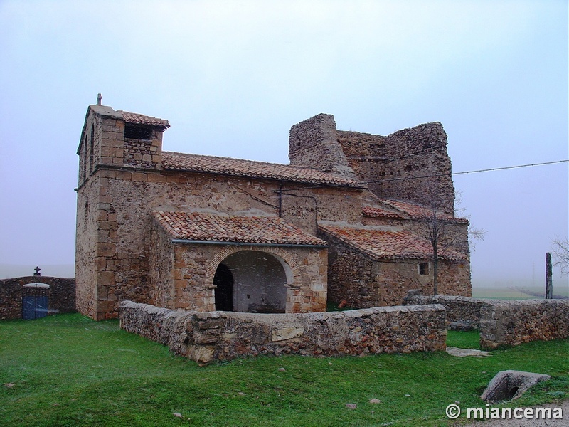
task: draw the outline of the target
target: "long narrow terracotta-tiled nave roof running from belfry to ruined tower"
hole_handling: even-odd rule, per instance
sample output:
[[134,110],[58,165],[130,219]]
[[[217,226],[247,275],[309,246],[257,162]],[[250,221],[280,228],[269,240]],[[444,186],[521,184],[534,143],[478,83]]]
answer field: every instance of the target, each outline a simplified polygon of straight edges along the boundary
[[363,187],[363,184],[360,184],[358,181],[339,174],[324,172],[317,168],[255,162],[252,160],[231,159],[229,157],[202,156],[199,154],[162,152],[162,167],[165,169],[278,179],[309,184]]

